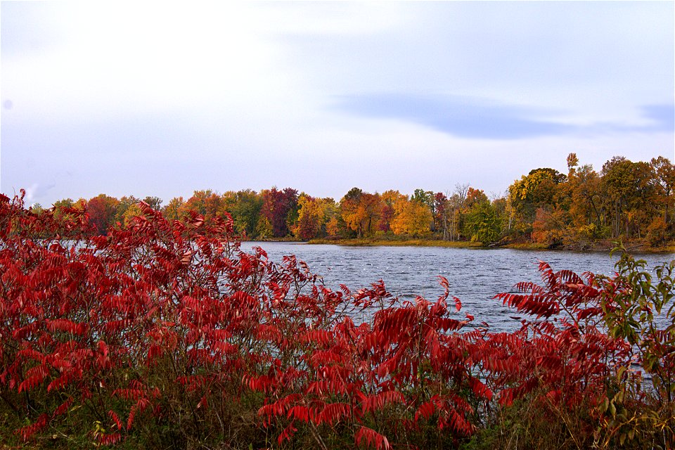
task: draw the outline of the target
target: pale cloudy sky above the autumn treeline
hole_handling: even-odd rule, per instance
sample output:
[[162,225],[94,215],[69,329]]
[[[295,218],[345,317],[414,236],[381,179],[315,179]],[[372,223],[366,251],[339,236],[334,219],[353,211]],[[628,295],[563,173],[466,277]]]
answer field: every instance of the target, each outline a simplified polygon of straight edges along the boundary
[[673,161],[674,6],[1,1],[0,191],[496,196],[572,152]]

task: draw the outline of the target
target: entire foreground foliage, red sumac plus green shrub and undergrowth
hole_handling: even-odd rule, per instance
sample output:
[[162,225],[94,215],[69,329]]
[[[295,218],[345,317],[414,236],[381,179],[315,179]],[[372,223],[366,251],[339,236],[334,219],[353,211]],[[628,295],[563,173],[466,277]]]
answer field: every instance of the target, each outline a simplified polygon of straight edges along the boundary
[[[330,290],[232,222],[146,203],[108,236],[0,197],[0,442],[186,448],[672,448],[675,262],[540,264],[496,298]],[[56,231],[60,234],[56,234]],[[47,238],[44,238],[47,236]],[[650,380],[648,382],[648,380]]]

